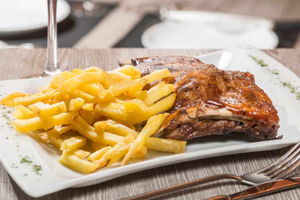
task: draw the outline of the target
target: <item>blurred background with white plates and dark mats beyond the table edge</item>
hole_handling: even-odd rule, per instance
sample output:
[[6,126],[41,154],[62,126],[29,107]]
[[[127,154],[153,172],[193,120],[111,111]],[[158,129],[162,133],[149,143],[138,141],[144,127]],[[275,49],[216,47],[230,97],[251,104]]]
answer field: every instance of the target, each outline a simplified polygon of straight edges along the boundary
[[[47,45],[46,0],[0,2],[0,48]],[[300,47],[299,0],[58,0],[58,47]]]

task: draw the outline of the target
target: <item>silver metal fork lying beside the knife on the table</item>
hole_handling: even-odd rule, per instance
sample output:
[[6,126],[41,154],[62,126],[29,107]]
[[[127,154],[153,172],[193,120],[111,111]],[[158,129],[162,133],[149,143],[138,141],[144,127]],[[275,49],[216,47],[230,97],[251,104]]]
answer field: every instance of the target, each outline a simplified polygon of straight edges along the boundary
[[217,181],[221,179],[234,179],[251,186],[264,183],[264,182],[274,181],[285,177],[300,165],[299,152],[300,152],[300,142],[298,142],[295,146],[293,146],[288,152],[286,152],[286,154],[284,154],[274,163],[262,169],[259,169],[255,172],[247,173],[241,176],[237,176],[233,174],[219,174],[219,175],[209,176],[206,178],[189,181],[182,184],[165,187],[159,190],[154,190],[141,195],[132,196],[126,198],[125,200],[152,199],[154,197],[173,193],[177,190],[182,190],[199,184],[204,184],[204,183]]

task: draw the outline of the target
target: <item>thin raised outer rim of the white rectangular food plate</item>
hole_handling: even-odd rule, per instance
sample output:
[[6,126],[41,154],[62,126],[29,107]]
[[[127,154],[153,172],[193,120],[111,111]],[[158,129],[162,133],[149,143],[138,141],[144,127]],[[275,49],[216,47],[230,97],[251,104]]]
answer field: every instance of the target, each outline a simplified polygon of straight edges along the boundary
[[[248,46],[247,48],[252,48],[252,50],[256,50],[258,52],[264,53],[265,56],[273,59],[275,62],[279,63],[281,66],[286,68],[286,70],[289,70],[289,72],[294,73],[289,68],[285,67],[283,64],[281,64],[280,62],[278,62],[276,59],[274,59],[272,56],[266,54],[265,52],[262,52],[251,46]],[[237,48],[232,48],[232,49],[237,49]],[[223,52],[226,50],[227,49],[215,51],[215,52],[211,52],[211,53],[206,53],[206,54],[195,56],[195,57],[204,57],[204,56],[208,56],[211,54],[217,54],[217,53],[220,53],[220,52]],[[297,76],[297,75],[295,75],[295,76],[298,77],[298,79],[300,80],[299,76]],[[49,78],[49,77],[46,77],[46,78]],[[33,79],[40,79],[40,78],[3,80],[3,81],[0,81],[0,84],[2,82],[6,82],[6,81],[15,81],[15,80],[30,81]],[[292,138],[287,138],[287,139],[283,138],[281,140],[268,140],[268,141],[252,142],[252,143],[247,143],[247,145],[245,145],[245,144],[230,145],[230,146],[224,146],[224,147],[219,147],[219,148],[210,148],[210,149],[204,149],[204,150],[190,151],[190,152],[184,153],[185,154],[184,157],[182,157],[181,154],[173,154],[173,155],[170,155],[167,157],[157,158],[158,160],[155,160],[155,162],[152,162],[152,160],[144,160],[143,162],[140,162],[140,163],[134,163],[131,165],[123,166],[122,172],[118,172],[116,174],[113,174],[112,176],[113,176],[113,178],[117,178],[117,177],[127,175],[127,174],[130,174],[133,172],[143,171],[146,169],[152,169],[152,168],[156,168],[159,166],[166,166],[166,165],[171,165],[171,164],[175,164],[175,163],[182,163],[182,162],[186,162],[186,161],[190,161],[190,160],[202,159],[202,158],[207,158],[207,157],[216,157],[216,156],[221,156],[221,155],[274,150],[274,149],[279,149],[279,148],[283,148],[283,147],[295,144],[299,140],[300,140],[300,136],[297,136],[297,137],[292,137]],[[257,147],[258,143],[263,143],[264,145],[260,145],[259,147]],[[267,150],[265,149],[266,147],[268,148]],[[224,149],[226,149],[226,148],[230,148],[230,151],[225,151]],[[214,152],[213,153],[209,152],[212,149],[214,149]],[[165,161],[165,162],[160,163],[159,161],[161,159],[167,160],[168,162]],[[79,178],[73,178],[73,179],[70,179],[67,181],[62,181],[61,183],[55,185],[54,187],[49,188],[48,190],[31,191],[30,188],[27,187],[27,184],[24,184],[24,182],[21,181],[21,178],[18,177],[16,175],[16,173],[13,172],[13,169],[11,169],[8,166],[8,163],[4,162],[1,153],[0,153],[0,161],[1,161],[2,165],[4,166],[4,168],[6,169],[6,171],[9,173],[9,175],[18,184],[18,186],[26,194],[28,194],[29,196],[32,196],[32,197],[41,197],[41,196],[47,195],[49,193],[53,193],[53,192],[56,192],[59,190],[66,189],[68,187],[83,187],[84,185],[82,185],[82,183],[87,183],[89,181],[101,179],[101,178],[105,177],[104,173],[112,173],[114,171],[121,171],[119,167],[107,169],[104,171],[99,171],[98,173],[96,172],[96,173],[92,173],[89,175],[81,176]],[[136,164],[138,164],[138,167],[136,167]],[[109,170],[109,172],[108,172],[108,170]],[[124,171],[125,171],[125,173],[124,173]],[[110,179],[112,179],[112,178],[105,179],[104,181],[107,181]],[[101,181],[101,182],[104,182],[104,181]],[[100,183],[100,182],[97,182],[97,183]],[[87,186],[87,185],[85,185],[85,186]]]

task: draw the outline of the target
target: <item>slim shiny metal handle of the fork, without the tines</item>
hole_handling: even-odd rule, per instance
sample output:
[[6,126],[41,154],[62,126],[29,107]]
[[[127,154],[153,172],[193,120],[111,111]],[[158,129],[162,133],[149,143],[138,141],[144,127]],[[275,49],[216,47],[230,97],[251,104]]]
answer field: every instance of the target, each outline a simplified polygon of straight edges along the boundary
[[193,186],[196,186],[196,185],[199,185],[199,184],[204,184],[204,183],[208,183],[208,182],[211,182],[211,181],[217,181],[217,180],[226,179],[226,178],[240,180],[240,181],[242,180],[241,177],[236,176],[236,175],[232,175],[232,174],[214,175],[214,176],[209,176],[209,177],[206,177],[206,178],[201,178],[201,179],[198,179],[198,180],[189,181],[189,182],[178,184],[178,185],[173,185],[173,186],[170,186],[170,187],[165,187],[165,188],[155,190],[155,191],[152,191],[152,192],[148,192],[148,193],[144,193],[144,194],[141,194],[141,195],[129,197],[126,200],[152,199],[154,197],[159,197],[159,196],[163,196],[163,195],[166,195],[166,194],[169,194],[169,193],[176,192],[177,190],[182,190],[182,189],[193,187]]

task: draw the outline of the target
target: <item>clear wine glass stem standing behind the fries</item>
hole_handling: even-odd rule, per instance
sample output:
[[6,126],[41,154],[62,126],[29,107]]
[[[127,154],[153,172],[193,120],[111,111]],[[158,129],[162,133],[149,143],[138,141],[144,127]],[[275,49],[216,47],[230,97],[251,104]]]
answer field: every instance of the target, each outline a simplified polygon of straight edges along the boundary
[[57,60],[57,23],[56,5],[57,0],[47,0],[48,3],[48,39],[47,39],[47,61],[44,73],[52,76],[60,73]]

